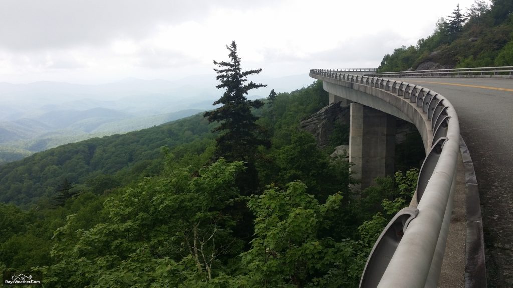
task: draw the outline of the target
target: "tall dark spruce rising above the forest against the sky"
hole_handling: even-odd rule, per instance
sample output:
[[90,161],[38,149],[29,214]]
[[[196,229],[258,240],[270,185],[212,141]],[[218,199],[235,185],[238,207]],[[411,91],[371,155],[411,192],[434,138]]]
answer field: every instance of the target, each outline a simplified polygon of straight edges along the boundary
[[259,74],[262,69],[242,71],[241,58],[237,55],[237,45],[232,42],[226,46],[230,51],[228,62],[217,62],[214,64],[219,69],[214,69],[221,84],[218,89],[226,89],[223,97],[214,102],[215,105],[222,105],[218,109],[206,112],[205,117],[209,122],[218,122],[221,125],[214,131],[221,132],[217,140],[216,158],[224,157],[228,161],[245,161],[252,164],[258,153],[258,147],[269,146],[269,140],[265,137],[265,131],[257,125],[257,117],[251,113],[251,109],[260,109],[262,101],[248,100],[248,92],[260,87],[263,84],[247,82],[250,75]]

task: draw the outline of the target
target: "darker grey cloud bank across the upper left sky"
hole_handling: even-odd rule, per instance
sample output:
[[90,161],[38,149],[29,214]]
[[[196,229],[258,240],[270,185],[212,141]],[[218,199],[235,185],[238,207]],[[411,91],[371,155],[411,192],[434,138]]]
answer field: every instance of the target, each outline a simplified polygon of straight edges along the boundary
[[251,5],[236,0],[2,0],[0,47],[19,51],[97,46],[116,37],[139,39],[159,24],[201,20],[213,7]]

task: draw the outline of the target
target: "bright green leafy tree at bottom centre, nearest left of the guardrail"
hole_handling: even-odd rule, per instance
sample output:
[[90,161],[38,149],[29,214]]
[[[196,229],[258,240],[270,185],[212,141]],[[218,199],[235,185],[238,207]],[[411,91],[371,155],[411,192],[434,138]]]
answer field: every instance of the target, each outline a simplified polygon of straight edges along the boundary
[[288,184],[286,191],[269,187],[261,196],[252,196],[248,206],[256,217],[255,238],[251,250],[242,255],[248,286],[354,286],[359,279],[343,273],[337,279],[316,279],[333,270],[349,270],[356,254],[351,241],[318,236],[325,215],[337,210],[341,200],[340,194],[334,194],[319,204],[299,181]]

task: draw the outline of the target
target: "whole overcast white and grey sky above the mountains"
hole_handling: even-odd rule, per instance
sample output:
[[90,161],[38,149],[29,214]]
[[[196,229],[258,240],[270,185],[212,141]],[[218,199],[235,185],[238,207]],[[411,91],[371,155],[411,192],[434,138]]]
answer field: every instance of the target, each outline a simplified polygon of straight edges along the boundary
[[0,82],[212,74],[238,44],[262,76],[376,68],[473,0],[1,0]]

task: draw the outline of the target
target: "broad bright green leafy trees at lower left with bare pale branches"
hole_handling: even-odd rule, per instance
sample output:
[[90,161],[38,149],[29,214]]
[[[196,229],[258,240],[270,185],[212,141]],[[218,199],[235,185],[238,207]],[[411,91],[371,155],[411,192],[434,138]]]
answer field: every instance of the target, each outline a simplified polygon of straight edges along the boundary
[[[208,282],[227,255],[240,252],[234,223],[222,213],[239,196],[242,162],[221,159],[191,177],[185,169],[147,178],[105,201],[108,218],[76,228],[76,215],[54,233],[44,268],[50,286],[149,287]],[[66,277],[63,277],[66,276]]]

